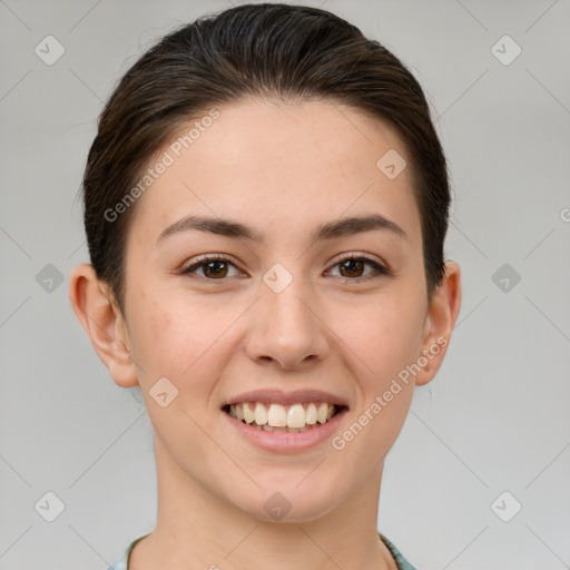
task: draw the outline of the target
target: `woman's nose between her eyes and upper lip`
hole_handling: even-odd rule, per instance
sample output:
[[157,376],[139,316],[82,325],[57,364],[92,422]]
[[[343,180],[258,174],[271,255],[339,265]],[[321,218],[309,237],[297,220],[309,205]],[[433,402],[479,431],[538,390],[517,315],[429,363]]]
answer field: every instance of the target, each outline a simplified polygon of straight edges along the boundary
[[283,370],[303,370],[326,356],[328,328],[302,281],[295,277],[279,293],[262,282],[246,340],[252,360]]

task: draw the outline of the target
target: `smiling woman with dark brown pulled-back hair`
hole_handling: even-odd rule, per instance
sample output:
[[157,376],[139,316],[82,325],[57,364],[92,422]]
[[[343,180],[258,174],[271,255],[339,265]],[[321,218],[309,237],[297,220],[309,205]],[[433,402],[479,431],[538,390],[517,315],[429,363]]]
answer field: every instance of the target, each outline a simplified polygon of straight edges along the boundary
[[101,114],[73,309],[155,431],[158,518],[115,570],[410,569],[384,458],[460,308],[421,87],[324,10],[164,38]]

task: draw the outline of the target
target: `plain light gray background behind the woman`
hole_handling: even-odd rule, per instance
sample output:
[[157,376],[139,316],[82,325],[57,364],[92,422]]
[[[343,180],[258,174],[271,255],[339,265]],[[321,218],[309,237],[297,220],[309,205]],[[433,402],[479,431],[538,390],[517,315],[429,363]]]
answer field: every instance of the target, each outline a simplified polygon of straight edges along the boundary
[[[306,3],[411,68],[454,190],[462,309],[386,459],[379,529],[419,570],[570,568],[570,2]],[[173,27],[229,6],[0,0],[0,569],[107,568],[154,527],[140,394],[114,384],[68,301],[88,261],[75,198],[119,77]],[[51,66],[35,52],[48,35],[65,48]],[[509,65],[513,43],[492,49],[504,35],[522,49]],[[49,491],[65,504],[53,522]]]

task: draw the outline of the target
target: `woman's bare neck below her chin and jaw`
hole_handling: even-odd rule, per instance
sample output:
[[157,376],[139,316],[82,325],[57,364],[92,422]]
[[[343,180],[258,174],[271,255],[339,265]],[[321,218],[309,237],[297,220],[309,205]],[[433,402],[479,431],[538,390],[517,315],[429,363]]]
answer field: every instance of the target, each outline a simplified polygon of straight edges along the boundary
[[383,464],[354,495],[323,515],[267,522],[190,479],[157,438],[155,452],[157,524],[134,547],[128,570],[396,570],[376,530]]

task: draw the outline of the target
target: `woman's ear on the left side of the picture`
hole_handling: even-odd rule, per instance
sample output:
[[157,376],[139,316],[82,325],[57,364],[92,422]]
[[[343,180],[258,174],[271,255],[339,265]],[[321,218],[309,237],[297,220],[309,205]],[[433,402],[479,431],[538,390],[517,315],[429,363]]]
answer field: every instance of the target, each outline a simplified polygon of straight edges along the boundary
[[136,366],[130,355],[127,323],[117,306],[111,287],[97,278],[91,265],[83,263],[72,269],[69,299],[115,383],[122,387],[138,385]]

